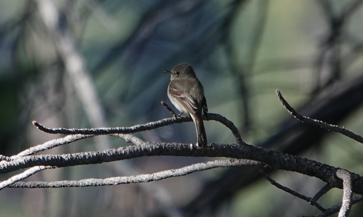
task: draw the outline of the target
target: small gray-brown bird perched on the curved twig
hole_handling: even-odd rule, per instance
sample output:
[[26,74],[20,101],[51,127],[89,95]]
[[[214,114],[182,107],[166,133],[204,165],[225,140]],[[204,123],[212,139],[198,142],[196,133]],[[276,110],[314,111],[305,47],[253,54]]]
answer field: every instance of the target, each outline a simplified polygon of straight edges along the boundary
[[207,135],[203,124],[203,116],[208,120],[207,101],[204,88],[195,75],[192,66],[179,64],[171,71],[164,71],[171,75],[168,86],[168,97],[171,103],[180,111],[190,114],[197,131],[197,146],[207,146]]

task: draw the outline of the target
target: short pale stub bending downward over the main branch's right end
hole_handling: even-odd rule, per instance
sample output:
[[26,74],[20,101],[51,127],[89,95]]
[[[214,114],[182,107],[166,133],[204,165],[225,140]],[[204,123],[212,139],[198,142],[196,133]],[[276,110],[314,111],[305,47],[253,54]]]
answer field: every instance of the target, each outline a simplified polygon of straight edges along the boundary
[[342,208],[339,210],[338,217],[346,217],[350,212],[350,208],[352,206],[352,177],[349,171],[345,169],[338,169],[337,176],[339,179],[343,180],[343,200],[342,200]]

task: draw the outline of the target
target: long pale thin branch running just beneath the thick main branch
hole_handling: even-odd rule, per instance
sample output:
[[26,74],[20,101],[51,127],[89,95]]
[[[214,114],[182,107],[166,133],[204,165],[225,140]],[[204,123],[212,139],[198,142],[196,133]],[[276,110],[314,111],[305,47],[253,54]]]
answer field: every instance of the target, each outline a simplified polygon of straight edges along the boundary
[[169,177],[185,176],[193,172],[213,169],[217,167],[238,167],[242,165],[263,165],[261,162],[245,159],[215,160],[206,163],[196,163],[179,169],[170,169],[152,174],[142,174],[136,176],[111,177],[107,179],[83,179],[79,181],[54,181],[54,182],[17,182],[10,185],[11,188],[62,188],[62,187],[89,187],[104,185],[119,185],[129,183],[142,183],[158,181]]

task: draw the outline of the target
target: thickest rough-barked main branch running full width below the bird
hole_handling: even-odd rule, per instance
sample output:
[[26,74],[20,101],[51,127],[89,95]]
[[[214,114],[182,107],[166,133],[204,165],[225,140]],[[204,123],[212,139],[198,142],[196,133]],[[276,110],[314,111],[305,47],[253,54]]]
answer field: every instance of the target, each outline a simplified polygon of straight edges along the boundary
[[[0,165],[0,173],[4,174],[36,165],[68,167],[99,164],[142,156],[231,157],[250,159],[260,161],[274,169],[284,169],[286,171],[295,171],[314,176],[331,184],[333,187],[343,188],[342,181],[336,176],[337,168],[335,167],[278,151],[250,146],[248,144],[212,144],[211,147],[196,148],[191,144],[143,142],[136,146],[119,147],[104,151],[25,156],[11,162],[3,161]],[[353,191],[362,194],[363,177],[354,173],[351,173],[351,175],[352,179],[355,180],[353,183]]]

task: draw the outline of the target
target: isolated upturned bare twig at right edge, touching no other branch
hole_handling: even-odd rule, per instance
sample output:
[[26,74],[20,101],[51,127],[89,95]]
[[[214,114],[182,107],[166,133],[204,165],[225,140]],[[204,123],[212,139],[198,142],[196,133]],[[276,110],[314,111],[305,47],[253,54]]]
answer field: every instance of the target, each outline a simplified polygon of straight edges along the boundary
[[282,105],[284,105],[284,107],[290,112],[290,114],[292,114],[296,119],[300,120],[303,123],[307,123],[313,126],[317,126],[317,127],[321,127],[323,129],[326,130],[330,130],[330,131],[334,131],[334,132],[339,132],[340,134],[343,134],[345,136],[348,136],[349,138],[352,138],[354,140],[356,140],[357,142],[363,143],[363,137],[359,136],[349,130],[346,130],[342,127],[333,125],[333,124],[327,124],[325,122],[322,122],[321,120],[315,120],[315,119],[311,119],[309,117],[305,117],[302,116],[301,114],[299,114],[297,111],[294,110],[294,108],[292,108],[289,103],[286,102],[286,100],[282,97],[281,93],[279,90],[276,90],[276,94],[278,96],[278,98],[280,99]]

